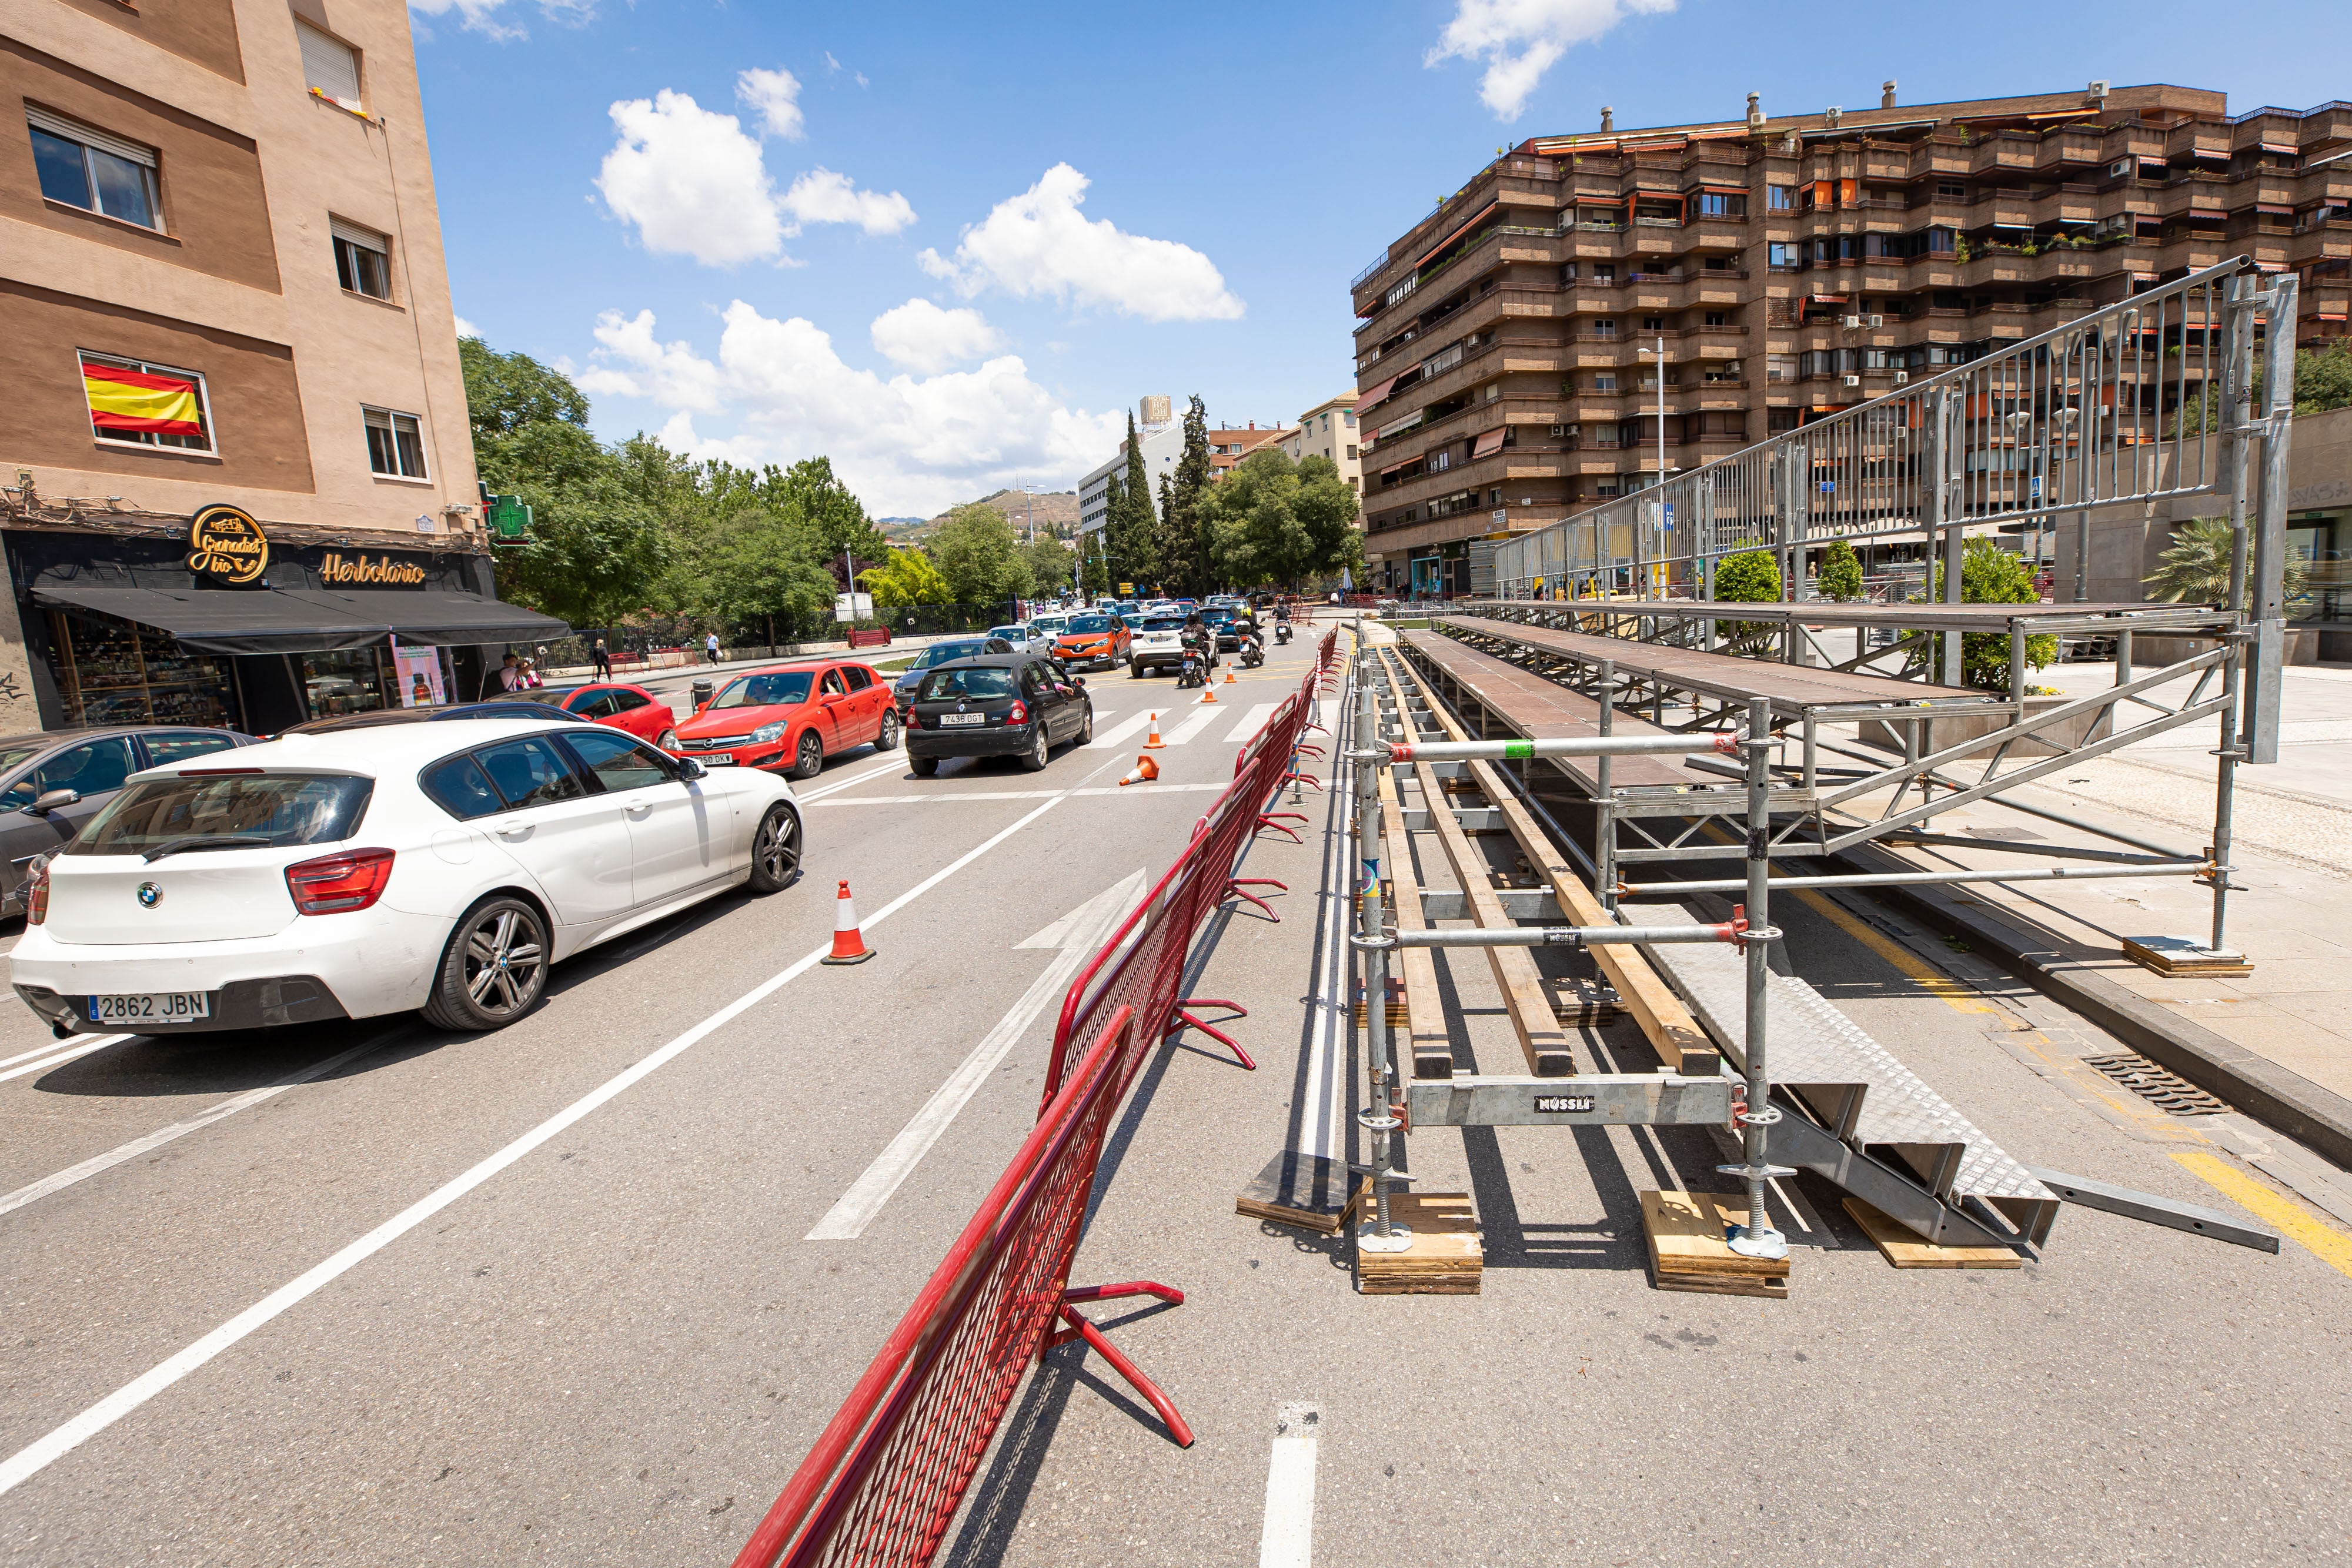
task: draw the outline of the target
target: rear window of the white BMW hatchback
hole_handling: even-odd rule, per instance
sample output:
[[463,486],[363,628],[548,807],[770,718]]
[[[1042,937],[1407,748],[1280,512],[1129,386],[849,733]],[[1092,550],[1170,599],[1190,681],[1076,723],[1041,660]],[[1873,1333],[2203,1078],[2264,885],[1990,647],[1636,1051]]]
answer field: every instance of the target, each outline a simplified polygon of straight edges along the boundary
[[367,813],[374,778],[202,773],[141,778],[89,818],[68,856],[136,856],[174,839],[235,837],[238,849],[336,844]]

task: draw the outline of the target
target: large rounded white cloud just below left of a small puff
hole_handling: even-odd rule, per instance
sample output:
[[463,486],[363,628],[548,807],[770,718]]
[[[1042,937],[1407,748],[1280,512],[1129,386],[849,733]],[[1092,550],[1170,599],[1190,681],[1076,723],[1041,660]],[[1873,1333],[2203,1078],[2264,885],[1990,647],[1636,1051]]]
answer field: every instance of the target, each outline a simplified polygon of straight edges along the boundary
[[612,125],[619,136],[595,186],[644,249],[703,266],[783,254],[776,188],[734,115],[663,87],[652,101],[614,103]]

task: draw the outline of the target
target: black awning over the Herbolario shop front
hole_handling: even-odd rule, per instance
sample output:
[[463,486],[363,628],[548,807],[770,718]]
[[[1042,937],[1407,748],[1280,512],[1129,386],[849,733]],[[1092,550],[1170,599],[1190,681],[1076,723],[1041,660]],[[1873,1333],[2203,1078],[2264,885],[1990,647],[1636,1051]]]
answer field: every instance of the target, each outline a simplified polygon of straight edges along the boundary
[[155,625],[205,654],[334,654],[386,637],[421,644],[536,642],[562,637],[562,621],[473,592],[329,592],[315,588],[122,588],[33,581],[42,604],[89,609]]

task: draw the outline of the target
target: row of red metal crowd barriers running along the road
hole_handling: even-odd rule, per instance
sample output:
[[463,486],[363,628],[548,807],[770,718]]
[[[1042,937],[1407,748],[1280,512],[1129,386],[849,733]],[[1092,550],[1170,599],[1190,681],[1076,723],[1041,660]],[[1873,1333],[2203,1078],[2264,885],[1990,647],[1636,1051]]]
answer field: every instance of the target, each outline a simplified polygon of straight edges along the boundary
[[[1129,1295],[1183,1305],[1183,1293],[1152,1281],[1070,1288],[1070,1260],[1103,1138],[1150,1048],[1174,1027],[1192,1025],[1254,1065],[1232,1039],[1188,1011],[1235,1004],[1192,1001],[1178,990],[1207,912],[1228,896],[1256,900],[1242,893],[1232,872],[1249,837],[1261,825],[1277,825],[1268,806],[1298,766],[1334,644],[1336,632],[1322,639],[1315,670],[1242,748],[1232,783],[1192,827],[1176,865],[1070,987],[1037,1126],[793,1472],[736,1568],[929,1563],[1021,1378],[1047,1349],[1073,1338],[1087,1340],[1152,1403],[1178,1446],[1192,1446],[1169,1396],[1077,1312],[1080,1302]],[[1094,1030],[1094,1044],[1068,1067],[1068,1044],[1084,1030]]]

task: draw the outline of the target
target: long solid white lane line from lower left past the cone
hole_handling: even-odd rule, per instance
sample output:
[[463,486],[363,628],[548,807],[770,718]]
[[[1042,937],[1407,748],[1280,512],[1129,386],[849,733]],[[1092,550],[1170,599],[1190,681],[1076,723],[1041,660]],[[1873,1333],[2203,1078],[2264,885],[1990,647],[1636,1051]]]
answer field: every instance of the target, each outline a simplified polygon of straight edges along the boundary
[[[866,929],[870,931],[873,926],[880,926],[884,919],[889,919],[898,910],[908,907],[910,903],[915,903],[917,898],[922,898],[924,893],[929,893],[931,889],[936,889],[941,882],[946,882],[948,877],[953,877],[955,872],[964,870],[967,865],[971,865],[974,860],[978,860],[981,856],[985,856],[990,849],[995,849],[1004,839],[1014,837],[1016,832],[1021,832],[1023,827],[1028,827],[1030,823],[1035,823],[1040,816],[1044,816],[1047,811],[1051,811],[1056,804],[1061,804],[1061,802],[1058,799],[1044,802],[1042,806],[1037,806],[1035,811],[1030,811],[1028,816],[1023,816],[1018,823],[1014,823],[1009,827],[1000,827],[993,837],[988,837],[976,849],[964,851],[962,856],[957,856],[955,860],[950,860],[941,870],[931,872],[929,877],[924,877],[922,882],[917,882],[908,891],[898,893],[887,905],[882,905],[877,912],[873,912],[873,914],[866,917],[866,922],[863,922]],[[407,1208],[402,1208],[390,1220],[386,1220],[376,1229],[367,1232],[365,1237],[360,1237],[358,1241],[353,1241],[343,1251],[334,1253],[332,1258],[327,1258],[320,1265],[313,1265],[306,1274],[301,1274],[301,1276],[296,1276],[296,1279],[278,1286],[275,1291],[270,1291],[268,1295],[263,1295],[259,1302],[254,1302],[252,1307],[247,1307],[238,1316],[228,1319],[226,1324],[221,1324],[219,1328],[214,1328],[212,1333],[207,1333],[202,1340],[188,1345],[186,1349],[181,1349],[179,1354],[169,1356],[167,1361],[160,1361],[158,1366],[148,1368],[139,1378],[132,1378],[120,1389],[115,1389],[113,1394],[108,1394],[99,1403],[89,1406],[87,1410],[82,1410],[73,1420],[68,1420],[66,1425],[56,1427],[47,1436],[40,1436],[35,1441],[26,1443],[24,1448],[19,1448],[16,1453],[12,1453],[7,1460],[0,1460],[0,1493],[9,1493],[16,1486],[21,1486],[26,1479],[40,1474],[42,1469],[47,1469],[49,1465],[54,1465],[64,1455],[73,1453],[78,1446],[87,1443],[99,1432],[106,1432],[111,1425],[115,1425],[118,1420],[122,1420],[125,1415],[129,1415],[139,1406],[143,1406],[146,1401],[155,1399],[167,1387],[172,1387],[174,1382],[179,1382],[188,1373],[198,1371],[200,1366],[205,1366],[207,1361],[212,1361],[214,1356],[219,1356],[223,1349],[228,1349],[230,1345],[235,1345],[245,1335],[249,1335],[256,1328],[266,1326],[270,1319],[285,1314],[289,1307],[301,1305],[306,1298],[315,1295],[320,1288],[334,1284],[336,1279],[341,1279],[343,1274],[348,1274],[358,1265],[367,1262],[369,1258],[374,1258],[376,1253],[381,1253],[386,1246],[390,1246],[400,1237],[409,1234],[412,1229],[416,1229],[419,1225],[423,1225],[426,1220],[430,1220],[433,1215],[437,1215],[449,1204],[459,1201],[461,1197],[466,1197],[468,1192],[473,1192],[475,1187],[480,1187],[482,1182],[487,1182],[492,1175],[499,1175],[501,1171],[506,1171],[510,1164],[515,1164],[517,1159],[522,1159],[524,1154],[529,1154],[539,1145],[548,1143],[550,1138],[555,1138],[557,1133],[562,1133],[572,1124],[581,1121],[583,1117],[588,1117],[590,1112],[595,1112],[597,1107],[602,1107],[607,1100],[614,1100],[616,1095],[621,1095],[628,1088],[633,1088],[635,1084],[644,1081],[647,1077],[652,1077],[654,1072],[659,1072],[668,1063],[677,1060],[680,1056],[684,1056],[687,1051],[691,1051],[694,1046],[699,1046],[710,1032],[720,1030],[727,1023],[734,1023],[736,1018],[741,1018],[743,1013],[748,1013],[753,1006],[767,1001],[779,990],[783,990],[786,985],[790,985],[800,976],[804,976],[811,969],[816,969],[818,959],[823,959],[828,952],[833,952],[830,938],[826,940],[823,947],[811,947],[804,957],[795,959],[790,966],[776,971],[774,976],[769,976],[760,985],[750,987],[748,992],[743,992],[741,997],[736,997],[734,1001],[729,1001],[720,1011],[710,1013],[699,1025],[694,1025],[691,1030],[687,1030],[684,1034],[680,1034],[670,1044],[661,1046],[659,1051],[654,1051],[652,1056],[647,1056],[637,1065],[633,1065],[633,1067],[628,1067],[628,1070],[623,1070],[623,1072],[604,1079],[600,1086],[595,1086],[593,1091],[588,1091],[586,1095],[581,1095],[579,1100],[574,1100],[564,1110],[555,1112],[553,1117],[548,1117],[546,1121],[541,1121],[539,1126],[534,1126],[522,1138],[515,1138],[513,1143],[508,1143],[503,1150],[499,1150],[489,1159],[482,1159],[480,1164],[475,1164],[463,1175],[459,1175],[459,1178],[440,1185],[430,1194],[426,1194],[419,1201],[409,1204]]]

